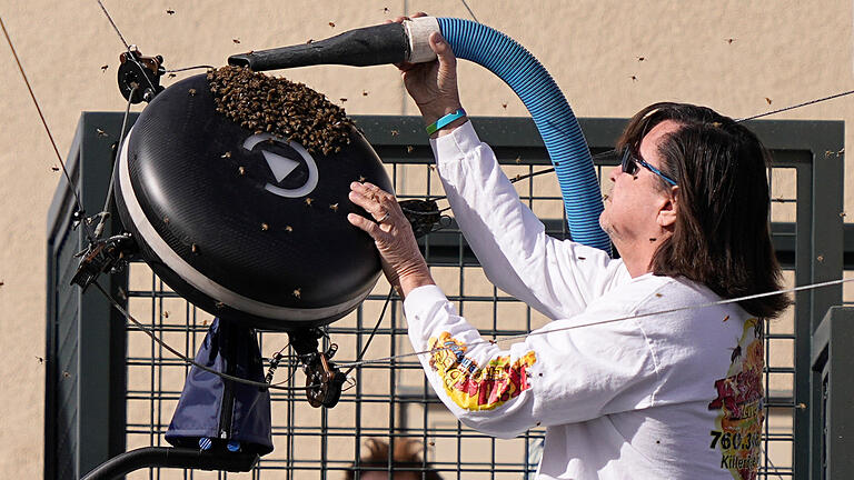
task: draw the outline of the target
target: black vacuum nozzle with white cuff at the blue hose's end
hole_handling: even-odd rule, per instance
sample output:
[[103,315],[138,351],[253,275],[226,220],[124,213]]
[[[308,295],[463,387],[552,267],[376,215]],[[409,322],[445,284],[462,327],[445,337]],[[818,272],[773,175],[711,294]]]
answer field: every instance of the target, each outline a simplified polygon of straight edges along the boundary
[[[439,31],[436,19],[421,17],[404,24],[384,23],[350,30],[316,42],[235,54],[228,58],[228,63],[266,71],[314,64],[367,67],[429,61],[436,58],[426,43],[431,31]],[[414,41],[414,38],[420,40]]]

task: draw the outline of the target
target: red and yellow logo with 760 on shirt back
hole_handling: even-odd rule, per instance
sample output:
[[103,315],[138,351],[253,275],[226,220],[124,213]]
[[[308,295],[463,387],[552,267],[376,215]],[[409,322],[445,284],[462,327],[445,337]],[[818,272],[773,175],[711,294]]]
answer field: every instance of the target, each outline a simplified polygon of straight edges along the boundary
[[744,322],[742,338],[733,348],[727,377],[715,381],[717,398],[709,410],[719,410],[712,430],[712,449],[721,451],[721,468],[736,480],[754,480],[759,464],[764,393],[762,370],[765,352],[762,320]]

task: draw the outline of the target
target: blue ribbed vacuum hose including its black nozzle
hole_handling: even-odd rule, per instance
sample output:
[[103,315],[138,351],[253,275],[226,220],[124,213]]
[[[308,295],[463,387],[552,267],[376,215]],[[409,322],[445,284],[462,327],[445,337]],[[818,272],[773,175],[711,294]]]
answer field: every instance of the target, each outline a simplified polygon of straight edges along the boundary
[[604,207],[598,177],[573,109],[543,64],[497,30],[470,20],[417,17],[403,24],[386,23],[318,42],[234,56],[228,62],[256,71],[322,63],[428,62],[436,59],[429,43],[433,32],[445,37],[457,58],[488,69],[519,96],[555,164],[573,240],[609,252],[610,239],[599,227]]

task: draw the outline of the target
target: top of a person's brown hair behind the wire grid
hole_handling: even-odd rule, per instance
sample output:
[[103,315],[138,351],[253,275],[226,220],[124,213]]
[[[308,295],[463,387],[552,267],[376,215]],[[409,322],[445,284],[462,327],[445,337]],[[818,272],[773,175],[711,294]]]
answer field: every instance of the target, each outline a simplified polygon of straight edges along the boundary
[[[359,461],[359,466],[351,467],[345,474],[346,480],[354,480],[356,471],[384,471],[394,473],[400,471],[411,473],[417,479],[423,480],[441,480],[439,473],[433,469],[429,463],[421,460],[418,454],[420,450],[420,443],[410,439],[397,439],[395,440],[395,451],[390,456],[389,468],[389,447],[383,440],[370,438],[366,441],[368,446],[367,457],[363,457]],[[403,470],[405,469],[405,470]],[[394,478],[394,474],[391,476]]]

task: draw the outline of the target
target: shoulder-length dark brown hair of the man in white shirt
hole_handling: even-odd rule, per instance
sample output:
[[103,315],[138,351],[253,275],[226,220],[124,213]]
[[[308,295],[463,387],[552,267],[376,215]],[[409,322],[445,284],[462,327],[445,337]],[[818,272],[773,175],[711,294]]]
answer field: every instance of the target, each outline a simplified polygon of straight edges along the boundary
[[[723,298],[779,290],[768,219],[768,151],[733,119],[671,102],[635,114],[618,149],[638,149],[644,136],[665,120],[681,126],[658,144],[662,172],[678,183],[678,212],[673,236],[653,257],[653,273],[686,277]],[[662,187],[669,186],[662,181]],[[738,303],[753,316],[774,318],[790,300],[776,294]]]

